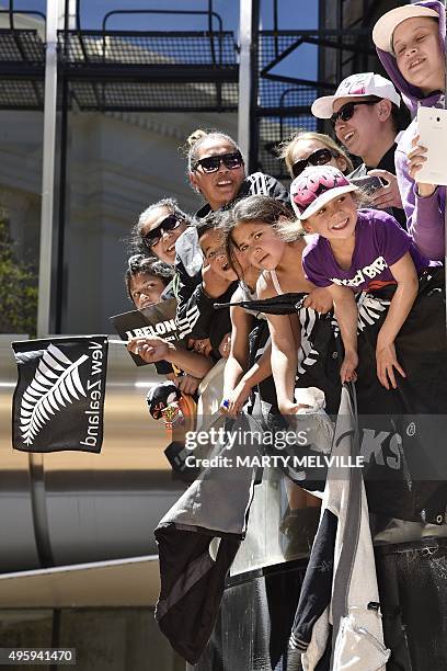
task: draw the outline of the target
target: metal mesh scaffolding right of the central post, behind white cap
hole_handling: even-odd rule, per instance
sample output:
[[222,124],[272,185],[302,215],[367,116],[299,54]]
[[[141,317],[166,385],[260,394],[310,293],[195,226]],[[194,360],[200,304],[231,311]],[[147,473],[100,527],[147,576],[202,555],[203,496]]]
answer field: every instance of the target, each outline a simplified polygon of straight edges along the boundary
[[[298,129],[330,132],[321,120],[310,114],[316,98],[333,93],[348,75],[368,70],[381,72],[382,68],[370,30],[371,12],[377,10],[377,2],[336,0],[329,3],[320,0],[318,27],[302,31],[279,30],[279,0],[272,0],[273,29],[256,33],[257,79],[253,92],[256,98],[251,144],[256,147],[256,169],[287,180],[284,161],[277,160],[280,143]],[[286,59],[295,55],[299,61],[299,49],[303,45],[318,49],[316,79],[278,73],[278,66]]]

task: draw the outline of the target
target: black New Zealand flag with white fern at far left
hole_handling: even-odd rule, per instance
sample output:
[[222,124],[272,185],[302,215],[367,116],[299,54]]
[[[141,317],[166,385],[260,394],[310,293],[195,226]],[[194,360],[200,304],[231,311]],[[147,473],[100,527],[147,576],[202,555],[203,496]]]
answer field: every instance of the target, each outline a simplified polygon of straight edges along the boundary
[[106,336],[13,342],[12,444],[24,452],[101,451]]

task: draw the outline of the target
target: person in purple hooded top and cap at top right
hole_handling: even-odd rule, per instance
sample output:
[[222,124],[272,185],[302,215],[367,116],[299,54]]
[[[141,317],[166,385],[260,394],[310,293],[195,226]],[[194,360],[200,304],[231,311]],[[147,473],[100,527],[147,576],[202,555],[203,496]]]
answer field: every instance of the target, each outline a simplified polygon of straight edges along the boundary
[[[415,2],[390,10],[373,30],[379,58],[412,114],[419,105],[444,107],[446,12],[443,2]],[[417,181],[427,150],[419,145],[416,118],[401,135],[396,174],[408,230],[422,253],[443,260],[446,187]]]

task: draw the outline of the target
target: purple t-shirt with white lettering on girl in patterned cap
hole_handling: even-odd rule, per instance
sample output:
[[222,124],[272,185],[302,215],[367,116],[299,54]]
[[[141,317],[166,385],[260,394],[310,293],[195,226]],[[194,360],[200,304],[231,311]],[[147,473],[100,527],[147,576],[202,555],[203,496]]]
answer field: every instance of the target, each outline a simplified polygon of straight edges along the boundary
[[354,291],[380,287],[396,282],[389,266],[410,252],[416,273],[429,265],[413,239],[386,212],[359,209],[351,268],[343,270],[333,255],[329,240],[314,236],[302,252],[306,277],[317,286],[339,284]]

